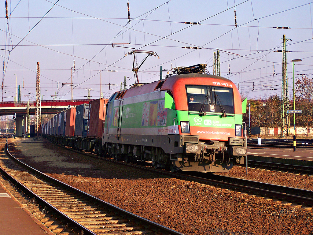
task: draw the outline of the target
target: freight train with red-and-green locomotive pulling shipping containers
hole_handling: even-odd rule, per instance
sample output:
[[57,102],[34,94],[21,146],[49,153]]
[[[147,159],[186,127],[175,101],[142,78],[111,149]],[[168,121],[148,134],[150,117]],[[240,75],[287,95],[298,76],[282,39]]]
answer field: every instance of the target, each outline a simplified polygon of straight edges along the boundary
[[100,156],[151,161],[155,168],[227,172],[247,156],[246,99],[205,66],[177,67],[166,79],[69,108],[42,125],[43,134]]

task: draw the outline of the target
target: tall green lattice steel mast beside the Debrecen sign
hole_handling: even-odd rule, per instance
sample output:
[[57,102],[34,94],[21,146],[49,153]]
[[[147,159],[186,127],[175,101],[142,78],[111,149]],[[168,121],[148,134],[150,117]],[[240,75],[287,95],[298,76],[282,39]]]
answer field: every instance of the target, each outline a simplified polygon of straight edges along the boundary
[[282,69],[282,81],[281,81],[281,128],[280,128],[280,136],[284,136],[286,133],[287,136],[290,134],[288,130],[290,128],[289,122],[289,114],[287,110],[289,110],[289,96],[288,96],[288,78],[287,78],[287,58],[286,52],[290,52],[286,50],[286,42],[291,39],[286,39],[285,34],[283,35],[283,69]]

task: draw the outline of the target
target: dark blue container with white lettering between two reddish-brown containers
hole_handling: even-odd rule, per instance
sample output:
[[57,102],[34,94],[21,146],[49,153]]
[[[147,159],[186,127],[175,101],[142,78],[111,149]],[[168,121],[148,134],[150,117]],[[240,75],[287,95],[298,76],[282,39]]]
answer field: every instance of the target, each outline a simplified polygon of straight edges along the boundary
[[76,106],[74,136],[87,137],[89,104]]

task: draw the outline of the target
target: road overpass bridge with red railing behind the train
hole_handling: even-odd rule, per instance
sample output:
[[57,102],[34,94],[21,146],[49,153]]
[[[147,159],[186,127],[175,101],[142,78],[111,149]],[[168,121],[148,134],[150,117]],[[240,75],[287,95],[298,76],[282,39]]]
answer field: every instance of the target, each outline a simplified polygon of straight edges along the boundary
[[[41,114],[57,114],[71,107],[80,104],[89,103],[91,100],[42,100],[41,101]],[[36,101],[29,102],[29,115],[35,115]],[[22,133],[27,133],[27,101],[21,103],[14,101],[0,102],[0,116],[11,116],[16,113],[16,136],[22,136]],[[24,126],[22,121],[24,120]]]

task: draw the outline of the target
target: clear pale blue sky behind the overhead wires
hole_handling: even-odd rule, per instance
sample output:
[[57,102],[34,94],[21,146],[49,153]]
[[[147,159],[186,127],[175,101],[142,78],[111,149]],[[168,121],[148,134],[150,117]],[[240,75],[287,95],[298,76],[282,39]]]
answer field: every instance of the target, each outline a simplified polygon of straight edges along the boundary
[[[281,38],[285,34],[292,40],[287,41],[287,50],[292,51],[287,53],[290,97],[292,59],[302,59],[295,65],[297,77],[306,74],[312,78],[311,1],[130,0],[129,4],[130,24],[126,0],[8,0],[8,19],[3,3],[0,25],[1,59],[5,61],[3,101],[14,100],[16,79],[17,86],[21,86],[22,101],[35,99],[37,62],[43,99],[53,99],[55,92],[58,98],[71,99],[70,86],[62,83],[71,82],[73,60],[73,99],[86,98],[87,88],[92,89],[91,98],[100,97],[100,71],[103,96],[110,97],[120,89],[124,76],[129,77],[127,85],[135,82],[131,71],[133,56],[125,57],[133,49],[112,48],[111,43],[131,43],[125,46],[155,51],[160,57],[147,58],[140,68],[140,82],[158,80],[160,66],[169,70],[171,66],[206,63],[212,74],[213,52],[220,49],[221,76],[239,85],[245,97],[266,98],[281,95],[282,53],[273,51],[282,50]],[[277,26],[292,29],[273,28]],[[138,64],[144,56],[138,55]],[[118,86],[110,86],[109,90],[105,85],[108,83]]]

